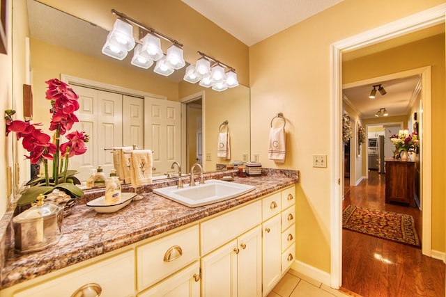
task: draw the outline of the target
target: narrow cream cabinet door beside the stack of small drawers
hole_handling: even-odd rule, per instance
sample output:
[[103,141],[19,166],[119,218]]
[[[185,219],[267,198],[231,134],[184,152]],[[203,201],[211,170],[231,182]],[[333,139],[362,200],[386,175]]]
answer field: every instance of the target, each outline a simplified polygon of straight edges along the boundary
[[280,214],[263,223],[263,296],[267,296],[281,277]]

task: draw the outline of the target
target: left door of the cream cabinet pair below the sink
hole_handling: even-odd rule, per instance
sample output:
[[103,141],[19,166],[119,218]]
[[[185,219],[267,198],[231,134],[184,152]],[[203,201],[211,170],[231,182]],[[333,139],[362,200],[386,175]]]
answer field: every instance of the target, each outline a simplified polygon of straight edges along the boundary
[[237,296],[237,240],[201,258],[201,296]]

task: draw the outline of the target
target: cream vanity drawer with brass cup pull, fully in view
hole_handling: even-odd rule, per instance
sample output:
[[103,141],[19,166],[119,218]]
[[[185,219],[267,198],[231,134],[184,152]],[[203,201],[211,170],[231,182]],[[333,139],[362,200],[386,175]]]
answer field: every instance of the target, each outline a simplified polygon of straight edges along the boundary
[[137,247],[137,288],[142,291],[199,259],[199,226]]

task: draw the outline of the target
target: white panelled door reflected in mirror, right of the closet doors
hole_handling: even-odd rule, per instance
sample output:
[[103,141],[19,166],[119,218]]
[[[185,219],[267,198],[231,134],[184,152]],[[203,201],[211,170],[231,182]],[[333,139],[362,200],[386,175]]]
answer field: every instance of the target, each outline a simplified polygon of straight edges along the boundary
[[181,159],[181,104],[152,97],[144,102],[144,147],[153,150],[153,175],[174,172],[172,163]]

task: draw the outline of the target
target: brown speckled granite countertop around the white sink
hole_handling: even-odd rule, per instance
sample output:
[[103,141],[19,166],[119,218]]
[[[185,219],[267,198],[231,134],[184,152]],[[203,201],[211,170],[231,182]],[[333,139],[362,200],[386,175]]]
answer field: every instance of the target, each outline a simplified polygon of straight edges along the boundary
[[[231,175],[235,175],[235,172],[231,172]],[[206,179],[209,178],[215,176]],[[84,200],[75,207],[73,214],[63,218],[62,235],[54,246],[24,255],[8,253],[1,268],[1,289],[123,248],[291,186],[298,182],[298,171],[263,168],[262,176],[235,177],[234,182],[254,185],[256,188],[237,198],[194,208],[163,198],[151,190],[144,191],[143,188],[138,189],[141,197],[139,200],[132,201],[112,214],[99,214],[87,207]],[[145,193],[141,193],[141,190]],[[93,193],[91,199],[98,195],[101,193]]]

